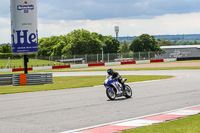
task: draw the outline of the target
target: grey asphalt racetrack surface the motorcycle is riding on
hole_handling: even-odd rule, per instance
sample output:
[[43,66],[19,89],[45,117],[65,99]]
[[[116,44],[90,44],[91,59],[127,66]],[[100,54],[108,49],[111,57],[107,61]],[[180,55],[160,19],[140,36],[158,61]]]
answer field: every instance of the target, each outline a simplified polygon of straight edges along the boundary
[[[200,104],[200,70],[119,71],[120,75],[173,75],[128,83],[130,99],[110,101],[103,85],[0,95],[1,133],[59,133],[158,114]],[[53,76],[106,75],[103,71],[55,72]],[[99,81],[102,82],[103,81]],[[67,86],[67,85],[66,85]]]

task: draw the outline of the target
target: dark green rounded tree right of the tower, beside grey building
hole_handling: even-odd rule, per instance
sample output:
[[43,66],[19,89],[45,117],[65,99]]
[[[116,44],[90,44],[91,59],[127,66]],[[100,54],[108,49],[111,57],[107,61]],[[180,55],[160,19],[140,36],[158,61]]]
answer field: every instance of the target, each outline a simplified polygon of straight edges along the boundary
[[130,50],[133,52],[163,52],[158,46],[154,36],[148,34],[142,34],[141,36],[136,37],[130,45]]

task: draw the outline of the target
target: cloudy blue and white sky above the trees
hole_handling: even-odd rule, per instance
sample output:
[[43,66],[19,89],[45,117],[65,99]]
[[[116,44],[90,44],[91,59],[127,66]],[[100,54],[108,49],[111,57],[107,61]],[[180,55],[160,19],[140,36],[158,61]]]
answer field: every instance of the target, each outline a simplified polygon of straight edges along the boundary
[[[29,0],[27,0],[29,1]],[[119,36],[200,34],[200,0],[37,0],[39,38],[86,29]],[[0,43],[10,42],[10,0],[0,0]]]

